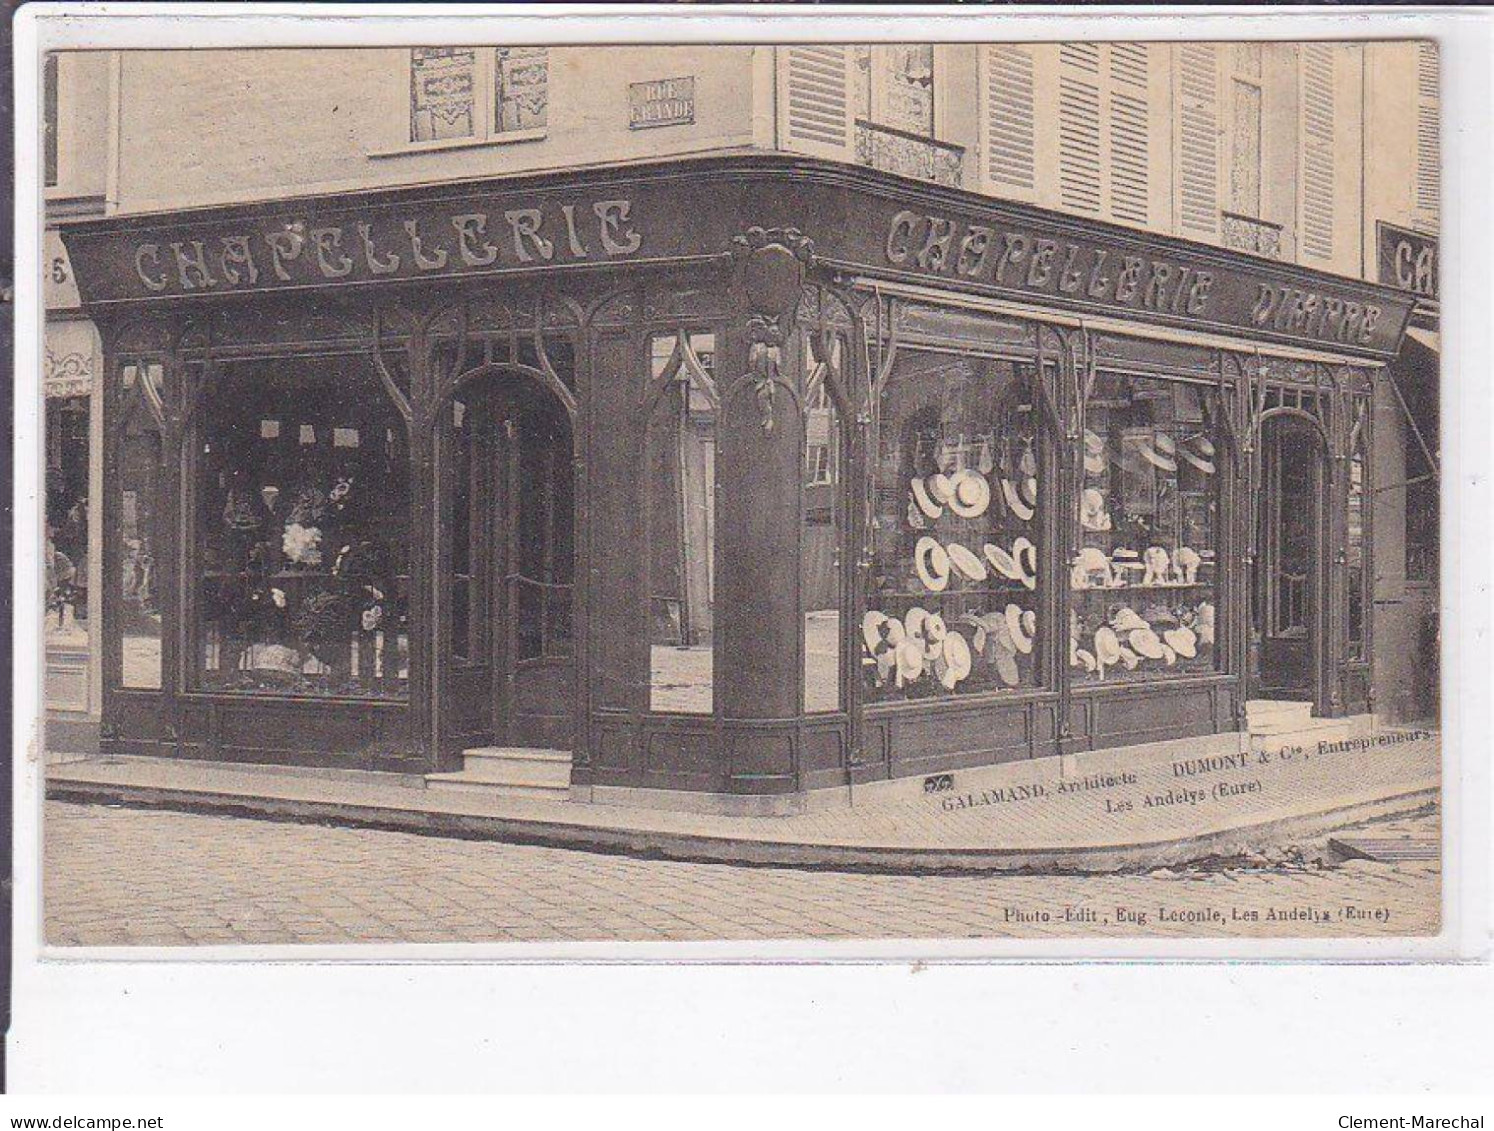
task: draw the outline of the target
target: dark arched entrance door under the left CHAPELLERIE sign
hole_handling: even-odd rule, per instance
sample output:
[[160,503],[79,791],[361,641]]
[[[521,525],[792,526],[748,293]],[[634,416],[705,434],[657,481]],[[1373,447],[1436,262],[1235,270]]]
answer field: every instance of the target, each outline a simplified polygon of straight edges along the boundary
[[532,385],[493,412],[490,626],[499,746],[569,750],[575,710],[571,420]]

